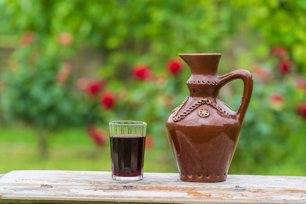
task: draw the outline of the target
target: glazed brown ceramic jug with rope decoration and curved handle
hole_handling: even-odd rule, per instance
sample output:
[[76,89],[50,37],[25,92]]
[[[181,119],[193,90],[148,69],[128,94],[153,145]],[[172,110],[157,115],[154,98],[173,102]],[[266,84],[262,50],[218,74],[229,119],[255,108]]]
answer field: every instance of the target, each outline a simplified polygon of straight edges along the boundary
[[[226,180],[252,90],[252,75],[236,70],[218,76],[221,54],[179,54],[191,69],[190,96],[166,122],[167,135],[180,179],[195,182]],[[244,83],[237,112],[219,99],[220,89],[234,79]]]

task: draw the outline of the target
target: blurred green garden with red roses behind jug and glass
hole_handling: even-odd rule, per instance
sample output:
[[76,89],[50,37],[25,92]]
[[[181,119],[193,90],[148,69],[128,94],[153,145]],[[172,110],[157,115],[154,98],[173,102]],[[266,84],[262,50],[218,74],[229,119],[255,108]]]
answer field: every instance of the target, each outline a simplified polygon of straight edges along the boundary
[[[0,174],[110,171],[108,122],[148,124],[145,172],[177,172],[178,53],[221,53],[254,91],[230,174],[306,176],[305,0],[0,0]],[[234,110],[242,81],[220,91]]]

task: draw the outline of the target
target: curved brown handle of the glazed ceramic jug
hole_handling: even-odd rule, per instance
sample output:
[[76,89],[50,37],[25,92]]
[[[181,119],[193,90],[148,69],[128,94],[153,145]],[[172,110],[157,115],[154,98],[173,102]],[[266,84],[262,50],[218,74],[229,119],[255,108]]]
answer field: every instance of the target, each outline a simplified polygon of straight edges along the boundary
[[228,74],[219,77],[220,80],[220,88],[223,87],[230,81],[235,79],[241,79],[243,81],[243,94],[240,102],[240,106],[237,113],[238,119],[242,122],[244,115],[246,113],[247,107],[249,106],[252,91],[253,91],[253,78],[252,74],[244,69],[239,69],[232,71]]

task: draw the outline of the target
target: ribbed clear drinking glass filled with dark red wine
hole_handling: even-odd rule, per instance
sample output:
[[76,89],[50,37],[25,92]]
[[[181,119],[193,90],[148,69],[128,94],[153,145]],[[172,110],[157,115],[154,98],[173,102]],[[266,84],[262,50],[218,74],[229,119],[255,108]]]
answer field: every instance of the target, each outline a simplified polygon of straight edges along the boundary
[[147,123],[142,121],[109,122],[111,176],[118,181],[143,178]]

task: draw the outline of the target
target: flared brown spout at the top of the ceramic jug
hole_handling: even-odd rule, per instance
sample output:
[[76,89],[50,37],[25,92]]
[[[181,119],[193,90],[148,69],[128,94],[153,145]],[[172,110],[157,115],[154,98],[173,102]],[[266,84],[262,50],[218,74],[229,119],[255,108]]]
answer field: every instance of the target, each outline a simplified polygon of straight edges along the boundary
[[192,74],[217,75],[221,54],[196,53],[196,54],[178,54],[178,55],[190,67]]

